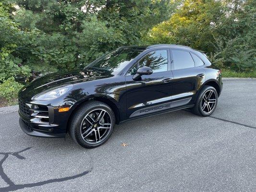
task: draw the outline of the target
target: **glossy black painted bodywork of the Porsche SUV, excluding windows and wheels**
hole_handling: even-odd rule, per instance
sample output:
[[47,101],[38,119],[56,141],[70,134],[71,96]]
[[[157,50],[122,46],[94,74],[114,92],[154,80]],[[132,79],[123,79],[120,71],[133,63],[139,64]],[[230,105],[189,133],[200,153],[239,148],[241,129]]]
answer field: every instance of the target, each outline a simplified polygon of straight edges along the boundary
[[[70,117],[81,103],[88,100],[98,100],[109,105],[115,113],[118,124],[139,117],[193,107],[198,92],[205,84],[215,86],[218,94],[221,92],[222,81],[219,70],[213,69],[206,56],[197,50],[170,45],[122,48],[138,49],[141,53],[127,62],[128,64],[117,74],[92,69],[57,72],[37,78],[25,85],[19,92],[20,102],[28,109],[33,109],[35,106],[48,109],[49,123],[42,124],[38,118],[31,116],[33,111],[29,110],[30,114],[26,115],[20,109],[20,125],[24,132],[33,136],[64,137]],[[168,51],[168,71],[141,75],[138,80],[134,80],[134,75],[127,73],[129,69],[147,53],[158,49]],[[205,64],[200,67],[174,70],[173,49],[194,53]],[[43,91],[65,84],[73,84],[73,88],[58,98],[46,101],[33,99]],[[58,112],[61,107],[70,107],[70,110]]]

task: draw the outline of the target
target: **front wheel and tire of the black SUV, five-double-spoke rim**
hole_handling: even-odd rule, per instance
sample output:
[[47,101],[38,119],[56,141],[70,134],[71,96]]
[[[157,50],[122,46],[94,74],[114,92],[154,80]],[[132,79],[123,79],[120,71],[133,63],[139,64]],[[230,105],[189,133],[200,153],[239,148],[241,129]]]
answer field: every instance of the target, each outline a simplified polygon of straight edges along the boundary
[[108,141],[114,124],[115,115],[108,105],[88,101],[74,112],[69,124],[69,134],[80,146],[94,148]]

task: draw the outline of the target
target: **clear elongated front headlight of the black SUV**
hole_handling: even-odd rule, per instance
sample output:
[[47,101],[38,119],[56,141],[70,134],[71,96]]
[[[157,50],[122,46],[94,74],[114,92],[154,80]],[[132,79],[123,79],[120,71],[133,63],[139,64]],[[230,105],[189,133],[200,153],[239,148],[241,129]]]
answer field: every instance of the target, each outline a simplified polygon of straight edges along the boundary
[[53,90],[50,90],[50,91],[47,90],[47,91],[44,91],[44,92],[39,93],[38,95],[34,96],[33,99],[35,99],[35,100],[50,100],[50,99],[54,99],[54,98],[57,98],[59,96],[64,95],[69,90],[71,90],[72,87],[73,87],[73,85],[70,84],[70,85],[62,86],[62,87],[59,87],[57,89],[53,89]]

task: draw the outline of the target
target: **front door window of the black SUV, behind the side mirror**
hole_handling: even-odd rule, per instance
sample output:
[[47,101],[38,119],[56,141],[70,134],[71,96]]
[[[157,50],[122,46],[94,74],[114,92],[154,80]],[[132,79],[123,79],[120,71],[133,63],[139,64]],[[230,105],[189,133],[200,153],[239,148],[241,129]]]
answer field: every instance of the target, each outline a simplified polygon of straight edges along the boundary
[[152,51],[137,64],[135,64],[128,73],[131,75],[135,74],[139,67],[147,66],[150,67],[153,72],[165,72],[168,68],[168,57],[167,50],[155,50]]

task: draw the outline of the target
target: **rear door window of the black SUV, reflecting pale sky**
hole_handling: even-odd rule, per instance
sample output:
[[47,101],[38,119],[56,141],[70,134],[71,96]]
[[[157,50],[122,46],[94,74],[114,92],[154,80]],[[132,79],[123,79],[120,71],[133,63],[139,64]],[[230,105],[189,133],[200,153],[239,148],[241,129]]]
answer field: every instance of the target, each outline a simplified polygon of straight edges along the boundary
[[174,70],[195,67],[194,60],[189,52],[182,50],[171,50],[171,52],[174,62]]

